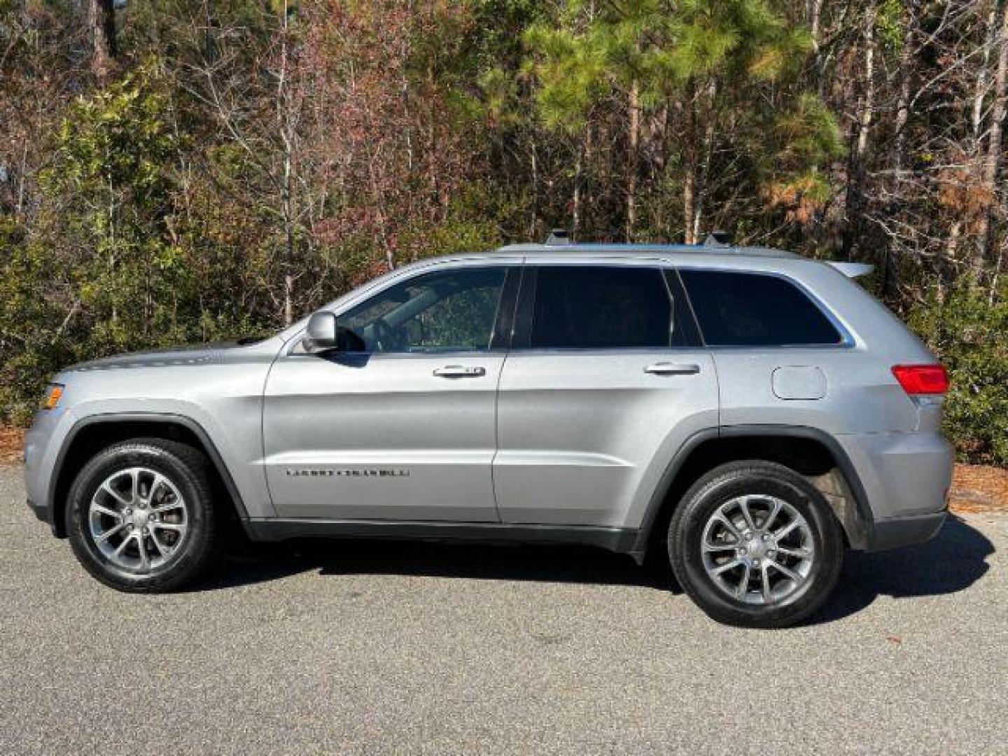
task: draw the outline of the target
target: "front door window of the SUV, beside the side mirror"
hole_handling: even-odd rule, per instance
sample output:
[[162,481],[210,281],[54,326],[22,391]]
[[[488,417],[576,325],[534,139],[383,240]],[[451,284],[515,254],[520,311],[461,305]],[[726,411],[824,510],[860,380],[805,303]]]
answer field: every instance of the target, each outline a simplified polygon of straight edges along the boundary
[[340,316],[368,352],[490,348],[506,269],[456,268],[397,283]]

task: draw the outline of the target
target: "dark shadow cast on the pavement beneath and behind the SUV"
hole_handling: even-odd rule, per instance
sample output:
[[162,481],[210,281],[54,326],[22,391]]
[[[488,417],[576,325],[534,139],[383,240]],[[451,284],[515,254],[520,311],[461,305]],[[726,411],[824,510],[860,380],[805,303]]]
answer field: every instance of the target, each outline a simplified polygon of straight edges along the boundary
[[[919,546],[848,552],[836,593],[803,624],[842,619],[878,596],[912,598],[963,591],[987,573],[987,557],[992,553],[994,544],[956,516],[950,516],[941,531]],[[267,583],[305,572],[583,583],[681,592],[661,565],[641,568],[625,554],[588,547],[322,538],[247,544],[230,553],[216,574],[194,590]]]

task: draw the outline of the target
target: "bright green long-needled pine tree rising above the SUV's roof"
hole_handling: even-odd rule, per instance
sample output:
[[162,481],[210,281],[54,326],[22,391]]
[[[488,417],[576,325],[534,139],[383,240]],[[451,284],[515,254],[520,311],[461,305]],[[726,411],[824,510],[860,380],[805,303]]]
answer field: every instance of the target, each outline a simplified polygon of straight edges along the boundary
[[[572,0],[559,20],[558,28],[539,23],[526,36],[539,114],[570,132],[584,131],[599,110],[614,113],[626,145],[627,239],[638,233],[642,154],[661,171],[656,183],[679,187],[679,229],[692,244],[719,187],[712,180],[716,153],[725,140],[739,139],[740,115],[756,115],[770,97],[778,113],[787,110],[793,119],[814,97],[797,90],[781,96],[811,40],[762,0],[633,0],[600,7]],[[805,105],[792,110],[799,101]],[[757,127],[760,120],[743,116],[741,122]],[[829,124],[827,130],[833,131]]]

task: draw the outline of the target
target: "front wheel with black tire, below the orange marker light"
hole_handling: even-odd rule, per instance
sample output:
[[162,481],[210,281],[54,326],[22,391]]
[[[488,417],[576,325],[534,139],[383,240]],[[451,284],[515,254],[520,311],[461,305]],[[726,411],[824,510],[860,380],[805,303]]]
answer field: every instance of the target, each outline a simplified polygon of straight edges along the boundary
[[164,438],[115,444],[71,486],[67,532],[74,553],[118,591],[176,590],[217,556],[211,491],[207,459],[190,446]]

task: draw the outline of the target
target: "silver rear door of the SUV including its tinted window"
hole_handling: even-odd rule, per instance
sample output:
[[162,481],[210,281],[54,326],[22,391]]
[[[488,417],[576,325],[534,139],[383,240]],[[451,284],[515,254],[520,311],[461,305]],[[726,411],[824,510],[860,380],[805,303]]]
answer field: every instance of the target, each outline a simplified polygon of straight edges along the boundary
[[494,490],[512,523],[637,527],[718,383],[659,261],[526,264],[498,398]]

